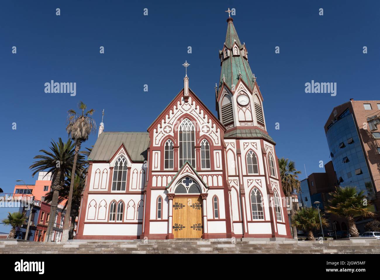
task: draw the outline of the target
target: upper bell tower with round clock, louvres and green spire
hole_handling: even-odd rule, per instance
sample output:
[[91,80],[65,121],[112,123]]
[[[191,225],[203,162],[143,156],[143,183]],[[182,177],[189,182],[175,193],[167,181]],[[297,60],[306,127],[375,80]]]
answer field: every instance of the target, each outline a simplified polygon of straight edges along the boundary
[[227,130],[257,128],[266,132],[260,88],[249,66],[245,43],[240,42],[231,17],[227,19],[226,39],[219,58],[222,69],[216,102],[220,121]]

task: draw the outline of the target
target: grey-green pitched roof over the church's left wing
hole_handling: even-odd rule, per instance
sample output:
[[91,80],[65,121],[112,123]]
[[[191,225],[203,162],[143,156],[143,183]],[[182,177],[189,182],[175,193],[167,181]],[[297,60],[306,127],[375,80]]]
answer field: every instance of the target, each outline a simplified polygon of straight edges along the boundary
[[88,160],[109,161],[123,144],[132,161],[143,162],[147,160],[149,142],[147,132],[102,132]]

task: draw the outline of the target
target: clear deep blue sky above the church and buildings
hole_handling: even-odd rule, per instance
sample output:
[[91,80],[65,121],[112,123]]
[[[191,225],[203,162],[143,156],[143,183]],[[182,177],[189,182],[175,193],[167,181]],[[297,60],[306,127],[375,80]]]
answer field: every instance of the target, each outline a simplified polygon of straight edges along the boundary
[[[379,99],[379,2],[331,2],[2,2],[0,187],[12,192],[16,179],[35,182],[28,168],[33,157],[51,139],[67,139],[67,110],[79,101],[95,109],[97,123],[105,109],[106,131],[146,131],[182,89],[185,60],[190,88],[216,114],[228,7],[236,9],[234,25],[247,46],[278,157],[294,160],[301,179],[304,164],[308,174],[323,172],[319,161],[329,161],[323,126],[332,108],[350,98]],[[76,82],[76,96],[45,93],[51,80]],[[311,80],[336,82],[337,95],[305,93]]]

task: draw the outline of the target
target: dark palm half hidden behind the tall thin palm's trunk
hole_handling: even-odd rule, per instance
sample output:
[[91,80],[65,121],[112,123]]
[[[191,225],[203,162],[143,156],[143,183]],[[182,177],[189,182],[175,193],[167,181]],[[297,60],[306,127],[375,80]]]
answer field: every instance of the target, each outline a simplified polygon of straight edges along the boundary
[[[79,206],[81,204],[81,195],[84,189],[86,182],[86,171],[81,174],[75,174],[74,178],[74,188],[73,188],[73,197],[71,199],[71,211],[70,211],[70,229],[69,229],[69,239],[72,239],[74,236],[74,227],[75,227],[75,218],[79,216]],[[61,203],[66,200],[65,208],[67,207],[68,197],[70,193],[70,184],[71,184],[71,173],[68,174],[65,180],[65,186],[59,191],[58,202]],[[50,191],[45,196],[46,202],[51,202],[53,197],[53,192]]]

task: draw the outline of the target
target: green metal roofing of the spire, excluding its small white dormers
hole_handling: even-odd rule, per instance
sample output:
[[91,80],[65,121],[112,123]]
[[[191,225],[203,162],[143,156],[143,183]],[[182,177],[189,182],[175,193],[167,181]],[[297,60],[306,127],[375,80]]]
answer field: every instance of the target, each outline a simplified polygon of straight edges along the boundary
[[[231,50],[234,42],[236,42],[237,46],[239,47],[239,50],[242,50],[244,44],[241,44],[239,37],[237,36],[237,32],[233,24],[233,19],[229,18],[227,22],[228,25],[225,41],[227,48]],[[225,83],[228,85],[229,88],[231,88],[231,86],[236,85],[237,81],[239,80],[239,71],[242,80],[247,84],[250,90],[253,90],[253,74],[247,59],[245,59],[242,55],[233,56],[232,53],[230,53],[230,57],[222,61],[222,71],[220,72],[219,90],[223,84],[223,74],[225,77]]]

